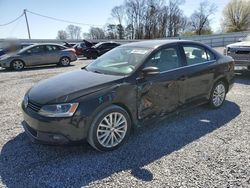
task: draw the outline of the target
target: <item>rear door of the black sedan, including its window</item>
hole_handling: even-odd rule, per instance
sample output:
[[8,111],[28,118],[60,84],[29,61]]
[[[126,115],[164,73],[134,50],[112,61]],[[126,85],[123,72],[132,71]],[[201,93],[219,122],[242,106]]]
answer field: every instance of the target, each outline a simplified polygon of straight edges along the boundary
[[208,98],[215,73],[215,55],[199,44],[185,43],[181,47],[185,57],[180,82],[181,102],[187,104]]

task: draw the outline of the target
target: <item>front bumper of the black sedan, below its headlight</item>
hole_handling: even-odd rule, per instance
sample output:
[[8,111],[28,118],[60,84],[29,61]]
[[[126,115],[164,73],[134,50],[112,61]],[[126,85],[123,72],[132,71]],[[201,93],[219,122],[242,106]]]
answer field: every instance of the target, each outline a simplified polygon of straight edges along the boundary
[[86,121],[79,114],[69,118],[43,117],[23,104],[22,111],[22,126],[33,142],[66,144],[83,141],[87,137]]

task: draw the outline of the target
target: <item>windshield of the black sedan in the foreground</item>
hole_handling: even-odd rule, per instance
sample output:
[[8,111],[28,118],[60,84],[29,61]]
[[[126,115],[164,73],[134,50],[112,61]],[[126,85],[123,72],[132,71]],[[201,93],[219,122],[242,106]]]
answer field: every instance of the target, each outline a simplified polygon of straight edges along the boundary
[[126,76],[140,66],[150,51],[150,48],[118,47],[97,58],[86,70]]

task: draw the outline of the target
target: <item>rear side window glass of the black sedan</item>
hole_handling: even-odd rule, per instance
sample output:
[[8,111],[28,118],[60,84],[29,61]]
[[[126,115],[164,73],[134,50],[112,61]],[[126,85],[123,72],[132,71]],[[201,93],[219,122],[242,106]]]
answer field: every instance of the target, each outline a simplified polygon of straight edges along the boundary
[[214,54],[202,46],[184,45],[183,49],[185,52],[187,65],[195,65],[215,59]]

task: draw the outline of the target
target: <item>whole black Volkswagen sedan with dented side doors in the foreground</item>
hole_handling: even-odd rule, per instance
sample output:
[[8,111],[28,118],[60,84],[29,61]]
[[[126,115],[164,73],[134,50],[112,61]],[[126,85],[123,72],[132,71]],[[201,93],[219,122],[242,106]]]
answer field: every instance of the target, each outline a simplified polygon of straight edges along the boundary
[[33,141],[87,140],[109,151],[138,125],[198,104],[221,107],[233,82],[233,59],[201,43],[130,43],[33,86],[22,102],[23,127]]

